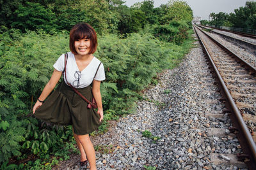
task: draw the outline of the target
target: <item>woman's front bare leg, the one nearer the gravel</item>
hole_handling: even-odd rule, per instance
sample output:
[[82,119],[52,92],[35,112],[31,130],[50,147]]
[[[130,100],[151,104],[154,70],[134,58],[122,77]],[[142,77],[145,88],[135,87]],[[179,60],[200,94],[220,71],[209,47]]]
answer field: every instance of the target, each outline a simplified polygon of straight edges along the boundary
[[83,145],[84,151],[86,153],[86,157],[90,164],[90,169],[97,169],[96,168],[96,157],[95,157],[95,150],[92,145],[92,141],[90,140],[89,134],[84,135],[77,135],[77,138]]

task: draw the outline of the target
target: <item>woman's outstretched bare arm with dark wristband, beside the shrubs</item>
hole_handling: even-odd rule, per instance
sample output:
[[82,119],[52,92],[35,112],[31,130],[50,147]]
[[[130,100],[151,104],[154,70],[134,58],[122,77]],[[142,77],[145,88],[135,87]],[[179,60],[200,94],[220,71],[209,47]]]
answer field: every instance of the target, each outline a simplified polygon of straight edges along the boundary
[[[52,92],[52,90],[54,89],[54,87],[56,86],[58,81],[60,80],[61,74],[62,74],[61,71],[57,71],[56,69],[54,69],[51,79],[45,85],[42,94],[38,97],[38,99],[40,101],[44,101],[46,99],[46,97]],[[36,103],[33,107],[33,113],[35,113],[36,109],[39,108],[43,104],[40,101],[38,101],[38,100],[36,101]]]

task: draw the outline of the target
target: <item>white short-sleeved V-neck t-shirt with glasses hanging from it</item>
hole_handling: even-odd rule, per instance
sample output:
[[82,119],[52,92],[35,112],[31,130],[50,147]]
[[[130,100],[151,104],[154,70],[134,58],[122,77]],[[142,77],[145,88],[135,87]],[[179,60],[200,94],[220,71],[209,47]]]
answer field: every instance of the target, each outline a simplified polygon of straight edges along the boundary
[[[88,66],[86,66],[83,71],[79,71],[75,55],[72,52],[68,52],[68,60],[67,60],[67,67],[66,67],[66,73],[67,73],[67,80],[65,82],[70,83],[72,86],[76,88],[83,88],[90,85],[93,81],[93,77],[97,71],[97,68],[100,64],[100,60],[93,56],[92,61]],[[58,71],[63,71],[65,66],[65,54],[63,53],[59,59],[55,62],[53,65],[54,69]],[[104,66],[101,63],[99,70],[94,78],[94,80],[105,80],[105,71]]]

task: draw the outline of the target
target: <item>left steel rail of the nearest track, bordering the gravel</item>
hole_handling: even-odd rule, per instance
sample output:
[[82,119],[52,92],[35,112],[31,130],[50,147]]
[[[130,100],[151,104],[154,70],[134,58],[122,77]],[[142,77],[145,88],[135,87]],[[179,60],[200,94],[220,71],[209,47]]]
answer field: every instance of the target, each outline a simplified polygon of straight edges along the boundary
[[[194,27],[194,29],[195,29],[195,27]],[[196,35],[198,36],[198,39],[200,39],[201,45],[203,46],[205,52],[207,53],[207,57],[209,58],[209,60],[212,64],[212,68],[214,69],[214,72],[216,73],[218,81],[221,84],[221,89],[223,90],[223,93],[225,94],[225,96],[230,104],[232,113],[234,113],[234,115],[236,117],[237,123],[239,125],[239,129],[241,129],[241,131],[243,132],[244,139],[245,139],[246,143],[248,144],[247,145],[249,148],[248,152],[250,152],[250,154],[248,154],[248,155],[250,157],[250,163],[253,164],[252,166],[250,166],[250,168],[255,169],[256,168],[256,145],[255,145],[255,142],[253,141],[252,135],[250,134],[250,131],[249,131],[248,127],[246,126],[246,124],[243,120],[243,117],[241,116],[241,113],[239,112],[239,109],[236,106],[236,103],[234,102],[230,92],[228,91],[227,86],[225,85],[225,82],[221,78],[220,72],[218,71],[217,67],[215,66],[214,61],[211,59],[211,57],[210,57],[211,55],[208,52],[208,50],[204,44],[204,41],[202,41],[202,39],[200,38],[196,29],[195,29],[195,32],[196,32]]]

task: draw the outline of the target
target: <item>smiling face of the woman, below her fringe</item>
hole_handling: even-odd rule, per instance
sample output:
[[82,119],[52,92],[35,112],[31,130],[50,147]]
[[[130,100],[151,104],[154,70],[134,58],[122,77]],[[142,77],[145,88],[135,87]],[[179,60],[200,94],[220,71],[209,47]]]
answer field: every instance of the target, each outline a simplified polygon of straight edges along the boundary
[[90,52],[90,39],[76,39],[75,48],[78,55],[87,55]]

